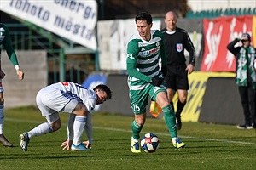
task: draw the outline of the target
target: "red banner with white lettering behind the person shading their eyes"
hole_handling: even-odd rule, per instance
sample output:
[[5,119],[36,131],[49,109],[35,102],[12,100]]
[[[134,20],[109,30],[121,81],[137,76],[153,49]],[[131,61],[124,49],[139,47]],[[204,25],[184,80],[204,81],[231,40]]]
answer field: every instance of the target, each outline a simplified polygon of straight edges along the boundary
[[[204,19],[205,49],[201,71],[236,71],[236,58],[227,45],[244,32],[253,34],[253,15]],[[236,46],[241,46],[241,42]]]

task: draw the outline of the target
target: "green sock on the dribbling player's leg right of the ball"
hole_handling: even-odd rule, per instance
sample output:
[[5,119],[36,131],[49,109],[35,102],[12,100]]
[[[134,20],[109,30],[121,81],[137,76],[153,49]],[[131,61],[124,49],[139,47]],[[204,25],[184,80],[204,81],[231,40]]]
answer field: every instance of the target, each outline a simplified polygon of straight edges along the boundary
[[176,127],[176,118],[175,114],[171,109],[170,105],[166,105],[166,107],[162,108],[164,112],[166,126],[168,127],[169,133],[171,134],[171,138],[177,137],[177,127]]

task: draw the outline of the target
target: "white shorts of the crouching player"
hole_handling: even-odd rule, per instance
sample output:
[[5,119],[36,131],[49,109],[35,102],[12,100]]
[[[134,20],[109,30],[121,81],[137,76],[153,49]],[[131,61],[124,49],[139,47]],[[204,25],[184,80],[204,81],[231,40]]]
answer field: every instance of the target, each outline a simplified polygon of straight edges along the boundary
[[42,116],[50,116],[58,112],[72,113],[79,101],[73,99],[72,95],[68,93],[65,96],[58,87],[47,86],[42,88],[36,97]]

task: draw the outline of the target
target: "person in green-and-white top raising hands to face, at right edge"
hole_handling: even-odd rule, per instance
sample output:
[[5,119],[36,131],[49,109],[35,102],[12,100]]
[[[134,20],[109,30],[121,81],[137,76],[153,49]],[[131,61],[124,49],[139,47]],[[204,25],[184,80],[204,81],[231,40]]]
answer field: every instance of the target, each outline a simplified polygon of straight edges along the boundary
[[[237,42],[242,46],[235,47]],[[238,125],[239,129],[256,128],[255,124],[255,89],[256,89],[256,50],[250,45],[251,37],[244,33],[241,38],[230,42],[227,48],[236,57],[236,84],[241,97],[241,105],[245,117],[245,124]]]

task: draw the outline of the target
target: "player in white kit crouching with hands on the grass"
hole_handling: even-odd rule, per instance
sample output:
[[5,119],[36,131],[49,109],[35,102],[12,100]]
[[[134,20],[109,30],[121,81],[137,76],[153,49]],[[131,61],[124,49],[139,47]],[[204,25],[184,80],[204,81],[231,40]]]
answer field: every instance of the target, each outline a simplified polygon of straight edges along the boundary
[[[92,144],[91,114],[95,105],[111,99],[112,92],[106,85],[87,89],[74,82],[57,82],[42,88],[36,97],[37,105],[45,117],[44,122],[31,131],[20,134],[20,147],[27,151],[27,145],[34,136],[57,131],[61,127],[59,112],[70,113],[67,126],[67,141],[63,149],[90,150]],[[88,141],[81,142],[84,132]],[[85,145],[84,145],[85,144]]]

